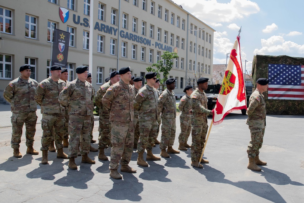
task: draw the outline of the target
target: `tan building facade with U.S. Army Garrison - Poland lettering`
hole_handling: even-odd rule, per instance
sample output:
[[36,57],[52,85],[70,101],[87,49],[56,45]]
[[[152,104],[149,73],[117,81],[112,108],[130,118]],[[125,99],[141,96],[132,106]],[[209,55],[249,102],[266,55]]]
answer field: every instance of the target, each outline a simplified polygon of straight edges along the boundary
[[[60,7],[68,13],[60,13]],[[77,66],[89,65],[90,37],[89,68],[95,89],[110,72],[126,66],[135,77],[144,77],[148,66],[162,60],[164,51],[174,49],[179,57],[173,60],[169,77],[177,79],[178,98],[184,95],[186,83],[193,84],[195,73],[212,78],[215,30],[170,0],[2,1],[0,24],[0,91],[20,75],[24,64],[31,65],[31,78],[38,82],[49,76],[52,24],[71,33],[70,81],[77,77]]]

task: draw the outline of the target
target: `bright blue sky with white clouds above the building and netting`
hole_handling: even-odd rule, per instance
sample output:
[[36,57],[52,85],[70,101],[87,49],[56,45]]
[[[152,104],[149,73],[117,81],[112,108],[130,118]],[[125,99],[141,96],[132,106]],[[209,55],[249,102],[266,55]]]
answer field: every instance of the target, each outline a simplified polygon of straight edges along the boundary
[[240,33],[243,68],[251,70],[253,56],[304,57],[304,1],[296,0],[173,0],[212,27],[213,64],[226,64],[226,53]]

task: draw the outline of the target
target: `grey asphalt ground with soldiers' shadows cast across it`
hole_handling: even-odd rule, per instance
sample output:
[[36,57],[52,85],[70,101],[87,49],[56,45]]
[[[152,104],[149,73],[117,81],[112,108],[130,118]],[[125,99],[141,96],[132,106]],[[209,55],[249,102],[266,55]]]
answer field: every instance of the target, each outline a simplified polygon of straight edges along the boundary
[[[0,113],[1,123],[9,123],[11,113]],[[134,152],[130,166],[137,173],[122,172],[123,180],[109,177],[109,161],[98,160],[98,152],[89,154],[94,165],[77,158],[78,170],[68,169],[68,160],[57,159],[55,152],[49,152],[49,164],[41,165],[41,152],[25,154],[24,137],[20,147],[23,157],[17,159],[10,147],[11,127],[2,127],[0,202],[303,202],[304,116],[267,116],[260,157],[268,165],[261,166],[261,172],[247,169],[250,134],[246,118],[236,111],[222,124],[212,126],[204,154],[210,164],[204,164],[204,169],[190,166],[190,151],[148,161],[149,167],[138,166]],[[41,124],[36,128],[34,148],[39,150]],[[94,138],[97,128],[95,121]],[[178,117],[174,148],[178,147],[179,132]],[[159,155],[158,145],[153,152]],[[105,154],[109,156],[110,149]]]

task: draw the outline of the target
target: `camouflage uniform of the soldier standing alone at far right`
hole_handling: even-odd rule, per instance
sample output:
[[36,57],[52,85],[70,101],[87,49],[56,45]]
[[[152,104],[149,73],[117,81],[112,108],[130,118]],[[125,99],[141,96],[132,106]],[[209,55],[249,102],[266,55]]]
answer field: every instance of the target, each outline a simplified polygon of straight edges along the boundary
[[266,127],[266,106],[264,95],[256,89],[249,98],[247,108],[248,119],[246,124],[249,125],[251,139],[248,144],[248,158],[254,158],[259,155],[259,150],[263,144],[263,137]]

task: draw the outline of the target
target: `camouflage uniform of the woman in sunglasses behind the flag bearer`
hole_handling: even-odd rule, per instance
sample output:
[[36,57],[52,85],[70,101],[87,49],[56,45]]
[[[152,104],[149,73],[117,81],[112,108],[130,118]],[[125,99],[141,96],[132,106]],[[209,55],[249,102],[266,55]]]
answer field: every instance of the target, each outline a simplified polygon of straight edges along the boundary
[[181,111],[179,115],[179,121],[181,122],[181,133],[178,136],[178,142],[184,143],[188,141],[191,132],[191,99],[190,96],[185,95],[181,97],[181,101],[178,104],[178,109]]

